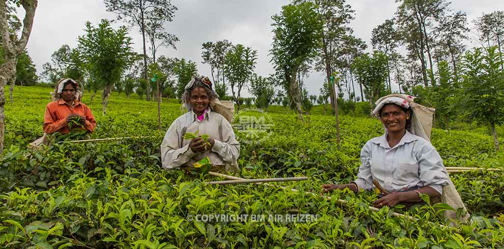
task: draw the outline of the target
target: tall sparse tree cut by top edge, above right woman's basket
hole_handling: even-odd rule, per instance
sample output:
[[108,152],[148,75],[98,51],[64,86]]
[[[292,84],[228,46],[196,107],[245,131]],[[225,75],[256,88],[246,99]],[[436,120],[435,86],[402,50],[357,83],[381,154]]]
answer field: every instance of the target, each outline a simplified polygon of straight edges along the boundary
[[[422,56],[425,56],[424,50],[427,52],[430,67],[429,78],[431,84],[434,84],[434,69],[431,55],[431,43],[433,39],[430,36],[430,29],[433,28],[432,25],[435,22],[445,15],[450,3],[446,2],[446,0],[396,0],[396,2],[400,3],[396,12],[398,21],[402,23],[403,27],[410,28],[404,29],[406,32],[418,33],[419,37],[416,38],[421,40],[421,47],[425,46],[425,49],[421,49],[422,51],[419,52],[422,53]],[[413,23],[414,25],[411,25]],[[411,29],[411,27],[415,29]]]

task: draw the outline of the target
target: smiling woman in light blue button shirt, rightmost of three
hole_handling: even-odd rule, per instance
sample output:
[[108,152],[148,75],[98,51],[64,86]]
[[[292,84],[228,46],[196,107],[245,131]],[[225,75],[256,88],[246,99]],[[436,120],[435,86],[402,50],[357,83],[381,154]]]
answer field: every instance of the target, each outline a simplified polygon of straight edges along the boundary
[[369,140],[362,148],[357,179],[350,184],[324,184],[323,192],[346,188],[353,192],[371,190],[376,180],[390,194],[373,202],[375,207],[419,202],[420,194],[441,196],[443,186],[449,184],[449,176],[434,146],[408,131],[412,117],[409,102],[388,97],[373,113],[383,123],[385,134]]

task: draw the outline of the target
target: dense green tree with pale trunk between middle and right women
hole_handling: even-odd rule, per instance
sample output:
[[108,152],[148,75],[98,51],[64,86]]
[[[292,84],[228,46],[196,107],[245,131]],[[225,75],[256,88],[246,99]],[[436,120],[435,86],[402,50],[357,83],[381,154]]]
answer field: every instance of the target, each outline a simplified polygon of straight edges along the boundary
[[284,78],[284,87],[303,119],[301,91],[296,76],[302,65],[309,65],[317,55],[323,23],[313,3],[282,7],[280,15],[272,16],[273,44],[270,54],[275,70]]

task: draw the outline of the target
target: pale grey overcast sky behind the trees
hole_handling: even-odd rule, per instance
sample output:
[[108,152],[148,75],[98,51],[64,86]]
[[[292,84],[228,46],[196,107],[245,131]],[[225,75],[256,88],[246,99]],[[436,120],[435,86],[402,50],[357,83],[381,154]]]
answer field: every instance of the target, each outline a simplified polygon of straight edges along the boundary
[[[354,34],[371,47],[371,30],[394,17],[397,4],[394,0],[347,1],[355,10],[351,22]],[[256,73],[267,76],[274,73],[268,56],[272,40],[271,16],[279,13],[286,0],[174,0],[178,11],[167,30],[179,37],[177,50],[161,48],[158,56],[178,57],[193,60],[200,74],[209,75],[210,67],[202,64],[201,45],[207,41],[227,39],[233,44],[241,43],[258,51]],[[469,22],[495,10],[504,10],[503,0],[452,0],[451,8],[467,13]],[[96,24],[102,18],[115,19],[114,13],[106,12],[102,0],[39,0],[32,35],[27,45],[30,56],[42,72],[42,64],[50,61],[51,54],[67,44],[74,48],[77,37],[83,35],[84,24]],[[117,26],[119,26],[118,23]],[[133,48],[142,52],[142,37],[136,27],[130,29]],[[475,38],[475,35],[469,34]],[[468,41],[468,46],[477,46]],[[312,72],[305,80],[310,94],[319,94],[324,76]],[[397,86],[396,86],[397,88]],[[230,92],[230,91],[228,91]],[[247,97],[248,94],[242,94]],[[357,95],[358,96],[358,95]]]

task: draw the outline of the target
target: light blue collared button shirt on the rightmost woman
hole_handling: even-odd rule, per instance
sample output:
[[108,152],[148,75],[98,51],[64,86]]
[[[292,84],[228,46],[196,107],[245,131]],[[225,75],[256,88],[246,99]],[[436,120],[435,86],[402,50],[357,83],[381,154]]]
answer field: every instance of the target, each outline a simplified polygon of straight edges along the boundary
[[388,145],[386,133],[369,140],[360,151],[360,161],[355,179],[359,189],[373,189],[373,179],[376,179],[390,192],[430,186],[442,194],[442,187],[449,181],[434,146],[408,131],[393,148]]

